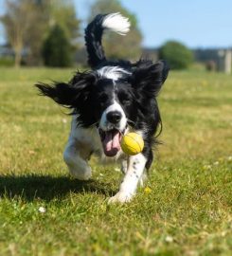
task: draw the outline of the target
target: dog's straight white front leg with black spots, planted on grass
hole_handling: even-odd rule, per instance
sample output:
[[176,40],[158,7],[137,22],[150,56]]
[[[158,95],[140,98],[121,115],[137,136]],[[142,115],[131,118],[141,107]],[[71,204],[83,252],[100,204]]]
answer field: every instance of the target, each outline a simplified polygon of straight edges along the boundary
[[143,175],[146,162],[147,158],[143,154],[130,156],[128,169],[120,185],[119,192],[110,198],[110,203],[124,203],[133,198],[138,182]]

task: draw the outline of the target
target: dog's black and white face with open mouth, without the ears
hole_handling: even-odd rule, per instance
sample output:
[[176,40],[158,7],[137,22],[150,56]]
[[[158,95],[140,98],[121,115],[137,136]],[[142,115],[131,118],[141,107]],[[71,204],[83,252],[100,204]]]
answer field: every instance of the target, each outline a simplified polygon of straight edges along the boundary
[[90,98],[105,155],[120,150],[121,136],[134,119],[134,90],[125,80],[99,79]]

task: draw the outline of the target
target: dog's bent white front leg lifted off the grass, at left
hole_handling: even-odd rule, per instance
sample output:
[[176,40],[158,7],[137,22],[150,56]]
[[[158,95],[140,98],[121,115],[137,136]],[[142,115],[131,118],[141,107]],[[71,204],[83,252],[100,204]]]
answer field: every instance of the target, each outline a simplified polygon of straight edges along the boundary
[[69,139],[63,152],[63,160],[68,166],[70,174],[80,180],[91,177],[91,167],[87,160],[91,155],[91,149],[87,144],[80,143],[75,139]]

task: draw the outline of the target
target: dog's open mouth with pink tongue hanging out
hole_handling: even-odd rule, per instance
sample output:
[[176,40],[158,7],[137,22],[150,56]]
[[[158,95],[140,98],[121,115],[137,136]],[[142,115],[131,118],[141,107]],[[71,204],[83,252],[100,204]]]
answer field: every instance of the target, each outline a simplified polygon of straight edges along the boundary
[[99,136],[105,155],[115,156],[117,152],[121,149],[120,141],[123,136],[123,132],[120,132],[116,129],[112,129],[109,131],[103,131],[99,129]]

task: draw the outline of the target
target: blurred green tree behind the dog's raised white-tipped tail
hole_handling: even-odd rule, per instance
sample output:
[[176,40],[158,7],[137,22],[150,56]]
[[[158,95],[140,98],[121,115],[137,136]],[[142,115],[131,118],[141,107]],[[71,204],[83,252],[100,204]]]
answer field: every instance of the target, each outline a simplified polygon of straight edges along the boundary
[[116,33],[105,33],[103,37],[103,46],[106,56],[119,59],[137,59],[141,55],[142,35],[137,26],[136,16],[121,6],[118,0],[97,0],[90,9],[89,21],[98,13],[120,12],[128,17],[131,22],[131,30],[126,36],[119,36]]

